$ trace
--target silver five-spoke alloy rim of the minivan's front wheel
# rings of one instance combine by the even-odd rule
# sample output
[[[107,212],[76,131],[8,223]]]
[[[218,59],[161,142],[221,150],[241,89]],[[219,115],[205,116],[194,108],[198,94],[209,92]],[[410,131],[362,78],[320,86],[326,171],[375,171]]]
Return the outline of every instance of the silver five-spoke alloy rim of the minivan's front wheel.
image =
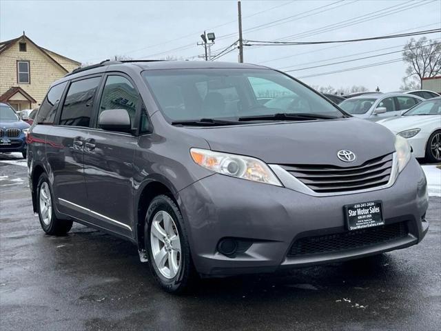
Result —
[[[159,272],[167,279],[175,277],[181,266],[181,239],[173,217],[163,210],[153,217],[150,245]]]

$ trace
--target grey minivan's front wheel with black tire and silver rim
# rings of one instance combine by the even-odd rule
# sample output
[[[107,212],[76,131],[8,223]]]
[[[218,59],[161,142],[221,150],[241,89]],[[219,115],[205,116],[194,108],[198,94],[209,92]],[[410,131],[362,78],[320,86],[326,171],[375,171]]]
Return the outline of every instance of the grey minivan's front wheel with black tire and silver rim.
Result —
[[[188,290],[196,274],[182,214],[170,197],[159,195],[150,203],[144,240],[150,270],[161,288],[170,293]]]

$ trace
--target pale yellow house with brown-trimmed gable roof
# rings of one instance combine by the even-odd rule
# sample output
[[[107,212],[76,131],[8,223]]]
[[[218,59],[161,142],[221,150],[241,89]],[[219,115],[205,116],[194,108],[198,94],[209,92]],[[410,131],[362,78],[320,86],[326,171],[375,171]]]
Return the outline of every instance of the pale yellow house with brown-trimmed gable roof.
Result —
[[[38,107],[50,84],[79,66],[78,61],[38,46],[24,32],[0,41],[0,102],[17,111]]]

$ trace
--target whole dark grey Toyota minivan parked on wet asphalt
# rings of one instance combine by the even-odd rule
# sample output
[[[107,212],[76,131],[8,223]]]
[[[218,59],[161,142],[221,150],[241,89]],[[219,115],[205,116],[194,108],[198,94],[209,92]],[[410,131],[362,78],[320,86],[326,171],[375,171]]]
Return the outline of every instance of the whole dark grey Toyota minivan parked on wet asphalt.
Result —
[[[46,233],[76,221],[128,239],[170,292],[406,248],[429,228],[406,139],[261,66],[76,70],[41,104],[28,166]]]

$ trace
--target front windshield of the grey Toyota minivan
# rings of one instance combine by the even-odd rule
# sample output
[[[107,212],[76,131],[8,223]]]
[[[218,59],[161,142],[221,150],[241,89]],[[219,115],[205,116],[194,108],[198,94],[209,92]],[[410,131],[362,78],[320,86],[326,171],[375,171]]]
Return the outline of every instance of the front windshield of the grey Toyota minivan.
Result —
[[[238,121],[280,113],[345,117],[326,99],[274,70],[147,70],[143,77],[161,112],[172,122]]]

